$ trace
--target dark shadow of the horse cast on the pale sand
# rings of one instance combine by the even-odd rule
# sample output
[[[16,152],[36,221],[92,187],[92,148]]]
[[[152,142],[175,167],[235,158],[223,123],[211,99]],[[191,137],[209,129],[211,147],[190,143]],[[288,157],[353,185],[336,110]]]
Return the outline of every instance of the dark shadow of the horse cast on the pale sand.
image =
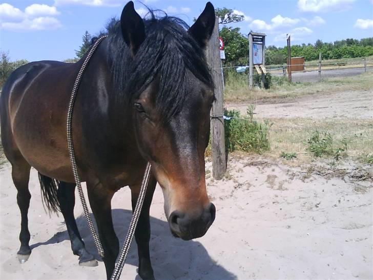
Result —
[[[130,210],[114,209],[112,210],[112,216],[114,229],[119,238],[121,248],[131,221],[132,212]],[[76,219],[76,223],[87,250],[98,261],[101,261],[87,226],[86,218],[79,216]],[[160,219],[151,217],[150,224],[152,229],[150,255],[156,279],[237,279],[236,275],[218,265],[198,241],[182,241],[180,238],[173,237],[168,223]],[[31,249],[66,240],[69,240],[67,230],[57,232],[46,242],[31,245]],[[217,244],[217,246],[219,245]],[[71,255],[73,255],[72,252]],[[132,243],[126,264],[138,265],[135,241]],[[76,265],[78,265],[77,258]],[[135,279],[141,278],[137,275]]]

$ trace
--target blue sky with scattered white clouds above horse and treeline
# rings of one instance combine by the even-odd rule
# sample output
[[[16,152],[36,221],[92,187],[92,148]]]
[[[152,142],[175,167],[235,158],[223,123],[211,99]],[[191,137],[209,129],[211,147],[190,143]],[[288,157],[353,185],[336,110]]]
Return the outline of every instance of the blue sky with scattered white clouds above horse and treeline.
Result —
[[[151,8],[176,15],[188,24],[203,10],[205,1],[143,0]],[[53,0],[0,1],[0,49],[12,61],[27,59],[63,60],[75,57],[86,30],[96,33],[109,18],[120,16],[127,1]],[[294,0],[294,1],[212,1],[215,8],[227,7],[245,16],[232,26],[247,34],[250,30],[267,34],[266,45],[334,42],[344,38],[373,36],[373,0]],[[144,7],[135,2],[142,14]]]

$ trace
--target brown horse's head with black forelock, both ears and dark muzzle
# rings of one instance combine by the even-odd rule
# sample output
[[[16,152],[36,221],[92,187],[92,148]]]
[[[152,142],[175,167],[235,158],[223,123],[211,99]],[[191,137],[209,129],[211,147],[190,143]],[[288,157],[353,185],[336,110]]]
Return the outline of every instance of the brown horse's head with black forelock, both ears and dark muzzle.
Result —
[[[131,87],[138,149],[162,188],[173,235],[203,236],[215,219],[204,162],[215,100],[204,50],[215,24],[214,7],[206,4],[188,30],[173,17],[143,20],[132,2],[120,22],[138,75],[133,79],[144,81]]]

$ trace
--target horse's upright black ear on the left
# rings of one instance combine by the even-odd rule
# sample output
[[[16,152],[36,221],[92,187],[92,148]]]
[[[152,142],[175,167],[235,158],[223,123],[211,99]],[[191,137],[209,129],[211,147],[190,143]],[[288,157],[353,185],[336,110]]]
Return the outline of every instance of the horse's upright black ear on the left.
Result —
[[[120,27],[123,39],[130,47],[132,55],[135,55],[145,39],[145,26],[141,16],[135,11],[132,1],[128,2],[123,8],[120,16]]]

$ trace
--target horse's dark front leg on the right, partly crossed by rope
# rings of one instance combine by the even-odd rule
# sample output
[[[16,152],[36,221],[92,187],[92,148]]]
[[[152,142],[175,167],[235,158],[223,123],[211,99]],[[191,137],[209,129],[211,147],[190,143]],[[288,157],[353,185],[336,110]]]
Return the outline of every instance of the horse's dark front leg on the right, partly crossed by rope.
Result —
[[[135,209],[137,198],[140,191],[140,185],[136,184],[130,186],[131,188],[131,201],[132,201],[132,210]],[[144,202],[142,205],[139,221],[135,230],[135,239],[137,243],[138,250],[138,274],[143,280],[154,279],[154,273],[152,264],[150,261],[150,252],[149,252],[149,241],[150,241],[150,205],[152,203],[153,194],[157,181],[152,175],[149,179],[147,193],[144,197]]]

